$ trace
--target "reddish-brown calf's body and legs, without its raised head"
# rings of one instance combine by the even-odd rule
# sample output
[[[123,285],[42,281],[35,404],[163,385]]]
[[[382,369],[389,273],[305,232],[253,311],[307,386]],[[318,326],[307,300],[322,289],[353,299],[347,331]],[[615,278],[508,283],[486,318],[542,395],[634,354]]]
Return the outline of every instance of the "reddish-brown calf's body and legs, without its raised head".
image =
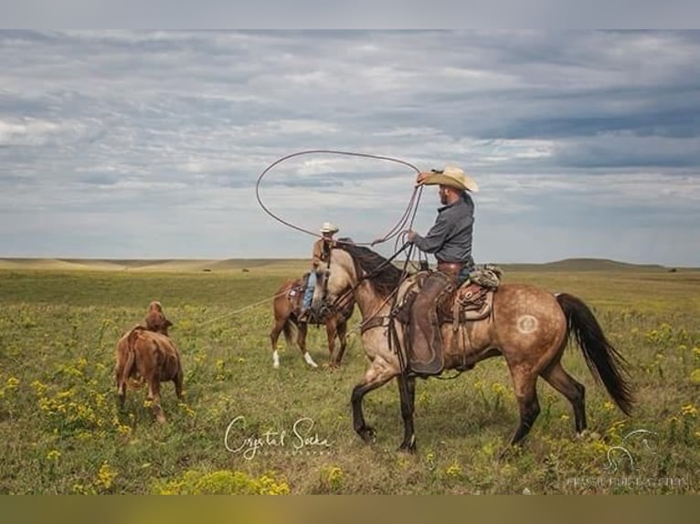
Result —
[[[126,383],[130,378],[141,379],[148,384],[148,400],[153,402],[155,418],[165,422],[161,407],[161,384],[173,381],[177,398],[182,399],[183,371],[180,354],[175,344],[161,333],[136,326],[124,334],[116,349],[114,374],[120,406],[124,407]]]

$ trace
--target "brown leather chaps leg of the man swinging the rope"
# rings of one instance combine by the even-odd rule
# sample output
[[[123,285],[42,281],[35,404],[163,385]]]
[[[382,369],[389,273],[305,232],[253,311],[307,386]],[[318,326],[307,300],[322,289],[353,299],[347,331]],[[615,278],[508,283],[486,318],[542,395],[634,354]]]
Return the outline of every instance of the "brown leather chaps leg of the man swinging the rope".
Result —
[[[413,302],[408,324],[408,367],[421,375],[440,374],[444,365],[437,301],[451,279],[440,272],[426,278]]]

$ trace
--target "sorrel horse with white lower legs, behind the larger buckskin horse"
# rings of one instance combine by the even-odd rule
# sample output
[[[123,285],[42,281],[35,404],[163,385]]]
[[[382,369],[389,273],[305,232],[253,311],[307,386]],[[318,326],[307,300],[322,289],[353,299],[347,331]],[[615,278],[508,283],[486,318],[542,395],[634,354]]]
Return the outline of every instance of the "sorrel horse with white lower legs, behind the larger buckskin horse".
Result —
[[[272,342],[272,365],[275,368],[280,367],[280,355],[277,351],[277,341],[280,338],[280,333],[284,333],[284,340],[287,345],[292,345],[293,331],[297,331],[297,345],[302,351],[304,361],[311,367],[318,367],[316,362],[313,362],[311,354],[306,351],[306,332],[308,324],[319,326],[325,325],[325,332],[328,336],[328,353],[331,359],[329,365],[337,367],[340,365],[345,348],[347,347],[347,321],[353,316],[355,311],[355,303],[350,303],[342,309],[326,310],[321,308],[313,308],[315,314],[308,322],[300,322],[299,317],[302,312],[302,296],[303,296],[303,278],[285,282],[281,288],[277,290],[275,299],[272,303],[274,310],[275,322],[270,331],[270,341]],[[335,351],[335,338],[338,338],[340,347]]]

